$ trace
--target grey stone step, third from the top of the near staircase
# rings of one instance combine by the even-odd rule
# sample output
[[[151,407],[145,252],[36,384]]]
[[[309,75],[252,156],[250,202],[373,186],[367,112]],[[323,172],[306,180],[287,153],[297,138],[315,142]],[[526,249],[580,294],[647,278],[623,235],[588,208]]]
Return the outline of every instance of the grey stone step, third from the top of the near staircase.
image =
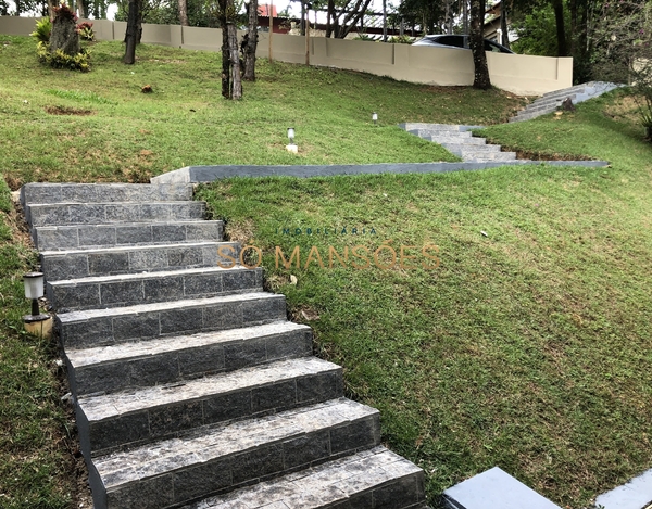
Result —
[[[220,242],[222,221],[114,222],[41,226],[33,230],[39,251],[88,250],[172,242]]]

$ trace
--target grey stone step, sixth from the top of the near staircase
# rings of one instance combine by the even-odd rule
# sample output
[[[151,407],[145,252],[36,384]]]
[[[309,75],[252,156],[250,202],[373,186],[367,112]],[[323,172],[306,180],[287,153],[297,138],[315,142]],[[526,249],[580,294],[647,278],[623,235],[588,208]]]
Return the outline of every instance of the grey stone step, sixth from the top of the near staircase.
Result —
[[[66,349],[78,349],[285,320],[284,295],[252,292],[59,313],[54,317],[54,327]]]

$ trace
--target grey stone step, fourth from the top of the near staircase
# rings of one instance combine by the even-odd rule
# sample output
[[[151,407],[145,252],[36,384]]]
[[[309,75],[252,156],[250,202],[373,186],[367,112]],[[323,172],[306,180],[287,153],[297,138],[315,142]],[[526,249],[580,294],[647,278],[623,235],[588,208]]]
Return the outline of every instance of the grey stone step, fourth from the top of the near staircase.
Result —
[[[221,255],[222,253],[222,255]],[[240,246],[236,242],[134,245],[96,250],[42,251],[48,281],[196,267],[230,267]]]

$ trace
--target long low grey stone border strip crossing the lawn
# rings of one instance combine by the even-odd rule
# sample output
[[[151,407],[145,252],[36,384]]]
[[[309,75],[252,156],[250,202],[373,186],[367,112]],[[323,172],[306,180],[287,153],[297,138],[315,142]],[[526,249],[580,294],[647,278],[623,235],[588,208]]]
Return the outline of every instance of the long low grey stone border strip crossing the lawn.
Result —
[[[377,175],[377,174],[446,174],[449,171],[473,171],[498,168],[500,166],[585,166],[604,167],[606,161],[526,161],[493,163],[384,163],[363,165],[294,165],[256,166],[220,165],[186,166],[151,179],[152,183],[200,183],[212,182],[231,177],[333,177],[336,175]]]

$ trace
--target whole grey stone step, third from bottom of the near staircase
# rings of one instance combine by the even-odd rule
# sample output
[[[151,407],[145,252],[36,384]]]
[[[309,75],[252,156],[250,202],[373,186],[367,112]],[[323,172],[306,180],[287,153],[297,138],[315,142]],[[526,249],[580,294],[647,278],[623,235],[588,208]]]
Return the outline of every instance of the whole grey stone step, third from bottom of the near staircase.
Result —
[[[196,380],[77,399],[85,455],[341,397],[342,369],[316,357],[277,360]]]

